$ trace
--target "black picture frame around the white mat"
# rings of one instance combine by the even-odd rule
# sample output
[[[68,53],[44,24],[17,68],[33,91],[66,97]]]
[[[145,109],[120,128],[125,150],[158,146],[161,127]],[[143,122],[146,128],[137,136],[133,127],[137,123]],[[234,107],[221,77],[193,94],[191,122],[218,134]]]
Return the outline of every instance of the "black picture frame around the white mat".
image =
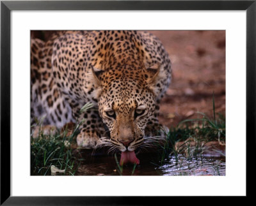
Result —
[[[157,197],[10,196],[10,12],[12,10],[246,10],[246,196],[255,182],[256,2],[253,1],[1,1],[1,205],[151,205]],[[237,94],[239,95],[239,94]],[[239,98],[239,96],[237,96]],[[160,197],[161,202],[171,201]],[[182,199],[183,201],[184,199]],[[243,200],[242,200],[243,201]],[[238,202],[237,202],[238,203]]]

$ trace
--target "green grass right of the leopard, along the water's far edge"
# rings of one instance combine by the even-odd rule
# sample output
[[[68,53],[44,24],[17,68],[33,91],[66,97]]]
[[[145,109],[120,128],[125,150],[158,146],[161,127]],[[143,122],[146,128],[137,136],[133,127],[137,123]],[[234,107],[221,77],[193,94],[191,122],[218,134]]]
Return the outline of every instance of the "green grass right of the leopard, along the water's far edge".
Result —
[[[211,141],[225,142],[226,125],[225,116],[216,114],[214,94],[212,96],[212,117],[202,112],[198,112],[198,118],[186,119],[175,128],[170,128],[166,134],[166,142],[159,146],[159,161],[163,165],[168,161],[170,155],[174,155],[176,161],[179,161],[179,154],[186,153],[187,158],[202,159],[204,143]],[[193,140],[193,147],[188,140]],[[186,142],[187,141],[187,142]],[[177,148],[177,143],[182,142]],[[176,145],[176,147],[175,147]]]

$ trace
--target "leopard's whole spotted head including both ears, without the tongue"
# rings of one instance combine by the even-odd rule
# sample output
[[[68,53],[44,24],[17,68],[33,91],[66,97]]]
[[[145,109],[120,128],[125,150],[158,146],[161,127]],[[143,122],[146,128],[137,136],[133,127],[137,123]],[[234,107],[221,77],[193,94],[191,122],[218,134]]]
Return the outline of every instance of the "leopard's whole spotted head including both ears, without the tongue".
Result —
[[[99,114],[110,131],[110,140],[121,152],[134,151],[144,141],[147,123],[154,118],[155,85],[159,64],[150,68],[92,68]]]

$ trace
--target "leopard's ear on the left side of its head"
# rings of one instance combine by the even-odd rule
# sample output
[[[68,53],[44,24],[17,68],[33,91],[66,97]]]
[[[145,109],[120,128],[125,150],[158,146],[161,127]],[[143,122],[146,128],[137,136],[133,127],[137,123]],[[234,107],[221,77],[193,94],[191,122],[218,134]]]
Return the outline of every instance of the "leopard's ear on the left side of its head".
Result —
[[[103,70],[99,70],[93,66],[91,66],[92,68],[92,82],[93,82],[93,85],[94,85],[94,90],[92,92],[92,96],[93,98],[95,99],[98,99],[101,92],[102,92],[102,84],[100,82],[100,78],[99,76],[104,73]]]

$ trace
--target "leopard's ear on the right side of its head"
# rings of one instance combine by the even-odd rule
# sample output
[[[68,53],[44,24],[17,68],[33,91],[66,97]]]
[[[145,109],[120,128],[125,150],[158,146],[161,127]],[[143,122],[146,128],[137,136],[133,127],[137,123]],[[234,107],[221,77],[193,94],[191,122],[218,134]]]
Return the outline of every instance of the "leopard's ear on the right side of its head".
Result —
[[[147,79],[148,88],[156,95],[157,94],[157,78],[159,77],[159,71],[161,68],[160,63],[155,63],[147,68],[149,78]]]

